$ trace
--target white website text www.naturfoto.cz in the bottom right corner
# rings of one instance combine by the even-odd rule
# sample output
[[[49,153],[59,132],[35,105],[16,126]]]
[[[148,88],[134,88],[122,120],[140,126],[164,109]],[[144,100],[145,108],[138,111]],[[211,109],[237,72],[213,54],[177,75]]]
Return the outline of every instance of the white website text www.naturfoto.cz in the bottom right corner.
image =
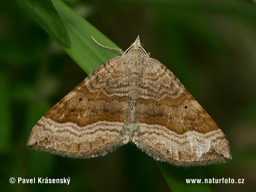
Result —
[[[244,184],[244,179],[237,179],[237,181],[235,181],[235,179],[186,179],[186,183],[241,183]]]

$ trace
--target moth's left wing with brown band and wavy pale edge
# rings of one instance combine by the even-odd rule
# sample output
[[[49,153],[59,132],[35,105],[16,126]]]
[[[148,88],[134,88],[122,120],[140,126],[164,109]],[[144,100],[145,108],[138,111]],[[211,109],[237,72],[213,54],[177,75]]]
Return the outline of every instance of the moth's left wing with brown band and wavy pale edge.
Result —
[[[61,99],[34,126],[27,146],[89,158],[127,143],[128,76],[120,65],[120,57],[109,60]]]

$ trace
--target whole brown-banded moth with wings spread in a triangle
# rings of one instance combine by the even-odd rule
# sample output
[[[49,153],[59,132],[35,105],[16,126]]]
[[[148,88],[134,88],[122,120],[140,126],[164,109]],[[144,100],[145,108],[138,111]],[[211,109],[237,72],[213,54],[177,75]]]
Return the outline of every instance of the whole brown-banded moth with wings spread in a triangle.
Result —
[[[27,146],[92,158],[128,142],[175,166],[232,159],[221,129],[179,79],[148,56],[139,36],[39,119]]]

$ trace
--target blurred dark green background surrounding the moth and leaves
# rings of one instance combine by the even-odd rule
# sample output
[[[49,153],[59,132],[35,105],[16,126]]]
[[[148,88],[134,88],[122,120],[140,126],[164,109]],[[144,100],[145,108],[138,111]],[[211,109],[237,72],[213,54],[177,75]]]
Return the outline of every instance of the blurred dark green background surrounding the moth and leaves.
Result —
[[[151,57],[166,65],[221,127],[233,160],[183,169],[156,162],[132,144],[94,159],[67,159],[27,149],[27,138],[37,120],[87,74],[17,2],[1,0],[1,191],[177,191],[166,180],[165,168],[174,178],[198,178],[200,171],[202,179],[244,179],[244,184],[206,185],[205,191],[256,189],[253,0],[65,2],[123,50],[140,35]],[[69,185],[10,184],[11,177],[71,180]],[[184,179],[177,182],[188,185]]]

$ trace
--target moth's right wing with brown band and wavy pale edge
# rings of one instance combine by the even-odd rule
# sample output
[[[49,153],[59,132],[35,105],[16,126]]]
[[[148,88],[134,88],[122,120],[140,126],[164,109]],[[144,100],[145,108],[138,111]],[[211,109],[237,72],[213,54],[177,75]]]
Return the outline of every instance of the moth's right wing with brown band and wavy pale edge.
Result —
[[[231,159],[216,123],[162,63],[149,59],[138,99],[140,132],[133,141],[155,159],[178,166]],[[154,74],[154,75],[153,75]]]

